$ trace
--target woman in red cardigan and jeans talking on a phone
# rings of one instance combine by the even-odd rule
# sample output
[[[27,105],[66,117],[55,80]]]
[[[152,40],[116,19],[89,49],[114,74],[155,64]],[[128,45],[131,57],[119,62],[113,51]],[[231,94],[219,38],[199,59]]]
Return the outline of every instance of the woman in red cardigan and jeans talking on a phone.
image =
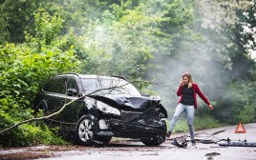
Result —
[[[196,145],[196,141],[194,139],[195,135],[194,135],[194,126],[193,126],[194,112],[197,109],[196,93],[198,93],[199,96],[203,99],[203,101],[210,107],[210,110],[213,110],[213,107],[211,106],[209,101],[206,99],[206,97],[203,95],[198,85],[193,83],[191,74],[189,72],[185,72],[182,75],[180,88],[177,91],[177,95],[181,96],[181,99],[175,110],[169,131],[167,133],[167,136],[171,135],[172,130],[174,129],[175,124],[179,119],[181,113],[183,111],[186,111],[187,124],[189,127],[191,142],[193,146]]]

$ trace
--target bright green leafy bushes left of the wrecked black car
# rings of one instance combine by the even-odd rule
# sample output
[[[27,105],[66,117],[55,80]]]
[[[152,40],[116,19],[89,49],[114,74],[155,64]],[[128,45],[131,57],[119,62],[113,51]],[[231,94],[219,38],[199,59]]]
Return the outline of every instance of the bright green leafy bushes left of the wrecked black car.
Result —
[[[50,76],[74,71],[78,61],[65,37],[57,38],[63,20],[55,13],[35,14],[35,36],[26,33],[27,42],[0,46],[0,130],[33,117],[36,91]],[[65,144],[42,123],[29,123],[0,135],[0,145],[31,146]]]

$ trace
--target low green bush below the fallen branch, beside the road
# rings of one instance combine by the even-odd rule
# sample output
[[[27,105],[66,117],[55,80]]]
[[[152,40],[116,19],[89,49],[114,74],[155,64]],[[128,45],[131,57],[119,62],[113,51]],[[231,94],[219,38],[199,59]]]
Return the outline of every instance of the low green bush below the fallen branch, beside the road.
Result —
[[[0,112],[0,130],[4,130],[13,126],[18,121],[9,113]],[[67,144],[61,137],[57,136],[53,131],[43,123],[32,122],[23,124],[14,130],[10,130],[0,134],[0,145],[2,147],[32,146],[37,144]],[[54,129],[57,130],[57,129]]]

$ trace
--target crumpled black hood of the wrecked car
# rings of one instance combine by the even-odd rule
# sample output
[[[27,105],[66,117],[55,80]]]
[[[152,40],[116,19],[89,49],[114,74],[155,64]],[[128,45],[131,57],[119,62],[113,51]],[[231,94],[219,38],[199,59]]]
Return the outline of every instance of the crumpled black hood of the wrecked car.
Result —
[[[160,97],[143,97],[131,95],[93,95],[92,98],[120,110],[147,110],[160,104]]]

